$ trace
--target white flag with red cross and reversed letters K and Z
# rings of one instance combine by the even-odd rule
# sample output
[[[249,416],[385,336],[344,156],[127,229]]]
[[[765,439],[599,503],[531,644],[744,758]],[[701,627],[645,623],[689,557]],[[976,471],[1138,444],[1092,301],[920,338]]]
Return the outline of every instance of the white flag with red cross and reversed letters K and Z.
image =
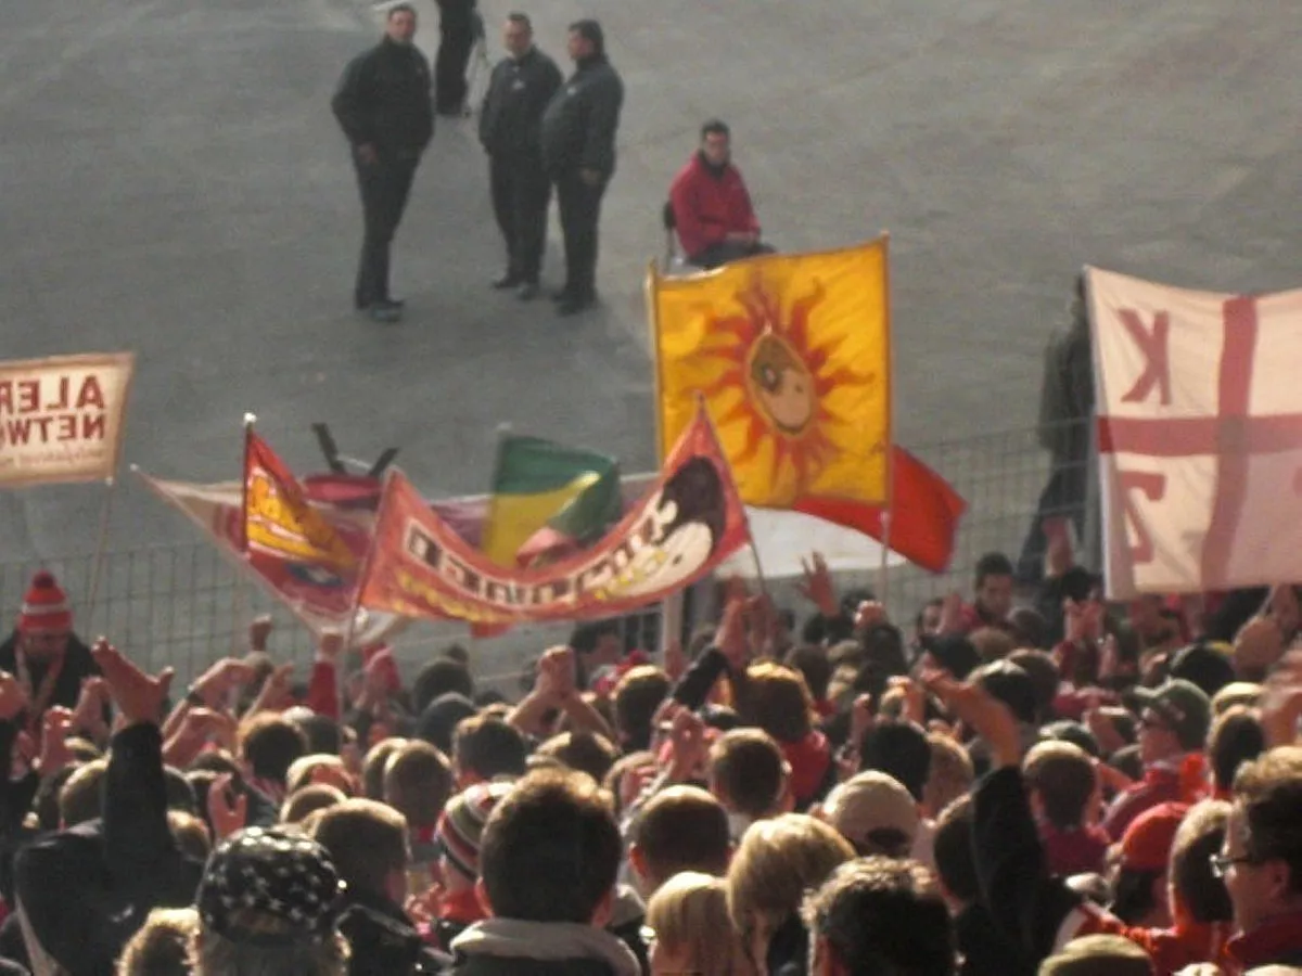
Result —
[[[1088,294],[1108,595],[1302,582],[1302,290]]]

